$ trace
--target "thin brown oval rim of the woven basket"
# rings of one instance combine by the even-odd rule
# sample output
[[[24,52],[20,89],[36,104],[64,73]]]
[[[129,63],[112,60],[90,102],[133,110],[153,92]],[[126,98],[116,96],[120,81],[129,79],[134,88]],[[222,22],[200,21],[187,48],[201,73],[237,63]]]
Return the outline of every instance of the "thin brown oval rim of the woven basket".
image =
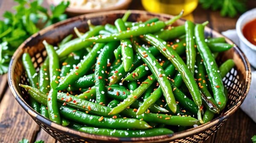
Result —
[[[124,141],[124,142],[167,141],[167,140],[177,140],[177,139],[181,139],[181,138],[184,138],[184,137],[189,137],[189,136],[195,135],[198,132],[205,131],[205,130],[209,129],[212,126],[217,125],[218,123],[221,123],[222,121],[227,119],[230,115],[232,115],[240,107],[241,103],[244,101],[244,98],[246,97],[246,95],[249,92],[250,82],[251,82],[251,70],[250,70],[250,64],[249,64],[246,56],[240,50],[240,48],[236,45],[233,48],[235,49],[237,54],[239,56],[241,56],[241,60],[244,64],[244,67],[245,67],[245,70],[246,70],[245,88],[241,92],[241,95],[240,95],[241,98],[239,99],[239,101],[235,105],[233,105],[233,107],[231,107],[229,110],[227,110],[226,112],[224,112],[222,115],[218,116],[217,118],[213,119],[212,121],[210,121],[208,123],[205,123],[203,125],[200,125],[198,127],[192,128],[192,129],[187,129],[187,130],[182,131],[182,132],[176,132],[176,133],[169,134],[169,135],[160,135],[160,136],[152,136],[152,137],[125,137],[125,138],[123,138],[123,137],[110,137],[110,136],[103,136],[103,135],[94,135],[94,134],[84,133],[84,132],[77,131],[75,129],[71,129],[71,128],[68,128],[68,127],[58,125],[57,123],[54,123],[54,122],[48,120],[47,118],[44,118],[43,116],[41,116],[38,112],[36,112],[34,109],[32,109],[24,101],[24,99],[21,97],[20,93],[17,90],[17,86],[14,83],[15,79],[13,79],[13,75],[15,74],[15,72],[14,72],[15,64],[18,60],[18,57],[21,57],[21,54],[23,54],[23,50],[25,49],[26,43],[33,40],[35,36],[46,34],[47,32],[51,31],[55,27],[61,27],[62,25],[68,24],[68,23],[73,22],[73,21],[83,20],[84,18],[89,19],[89,18],[92,18],[92,17],[99,17],[99,16],[102,16],[102,15],[108,15],[108,14],[124,14],[125,12],[126,12],[126,10],[105,11],[105,12],[84,14],[84,15],[81,15],[81,16],[73,17],[73,18],[64,20],[62,22],[55,23],[54,25],[51,25],[47,28],[44,28],[41,31],[39,31],[38,33],[33,34],[28,39],[26,39],[26,41],[24,41],[17,48],[14,55],[12,56],[12,60],[9,64],[9,70],[8,70],[8,84],[9,84],[9,87],[12,91],[13,96],[15,97],[16,101],[20,104],[20,106],[23,107],[23,109],[27,113],[29,113],[30,116],[34,117],[36,120],[40,121],[41,123],[44,123],[45,126],[48,126],[49,128],[53,128],[55,131],[61,132],[65,135],[70,135],[70,136],[78,137],[78,138],[82,137],[84,139],[87,138],[87,139],[92,139],[92,140],[95,140],[95,139],[96,140],[102,140],[102,141],[104,141],[104,140],[113,140],[113,141],[115,141],[116,140],[116,141]],[[149,14],[149,15],[153,15],[155,17],[164,17],[164,18],[168,18],[168,19],[173,17],[172,15],[168,15],[168,14],[155,14],[155,13],[151,13],[151,12],[147,12],[147,11],[140,11],[140,10],[131,10],[131,14]],[[182,22],[182,21],[184,22],[184,20],[178,20],[178,21],[179,22]],[[210,31],[211,34],[217,35],[218,37],[220,37],[220,36],[225,37],[225,36],[221,35],[220,33],[218,33],[217,31],[212,30],[209,27],[206,27],[206,30]],[[225,37],[225,39],[226,39],[227,42],[233,43],[227,37]]]

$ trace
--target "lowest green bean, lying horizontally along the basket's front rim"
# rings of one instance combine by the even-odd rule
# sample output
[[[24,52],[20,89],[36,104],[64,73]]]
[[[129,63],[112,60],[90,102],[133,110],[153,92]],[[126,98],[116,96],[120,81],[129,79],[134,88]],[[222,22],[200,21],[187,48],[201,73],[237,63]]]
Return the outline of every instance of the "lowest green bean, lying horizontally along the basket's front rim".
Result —
[[[173,131],[166,128],[147,129],[147,130],[116,130],[116,129],[99,129],[94,127],[83,127],[79,129],[95,135],[106,135],[111,137],[150,137],[158,135],[172,134]]]

